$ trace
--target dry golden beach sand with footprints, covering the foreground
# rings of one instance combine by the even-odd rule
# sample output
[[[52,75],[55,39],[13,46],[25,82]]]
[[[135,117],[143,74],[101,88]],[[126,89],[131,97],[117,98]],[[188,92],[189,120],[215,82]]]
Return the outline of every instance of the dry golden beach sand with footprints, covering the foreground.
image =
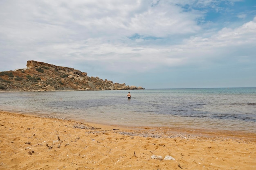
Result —
[[[151,159],[153,154],[175,160]],[[256,137],[202,137],[0,112],[5,169],[255,170]]]

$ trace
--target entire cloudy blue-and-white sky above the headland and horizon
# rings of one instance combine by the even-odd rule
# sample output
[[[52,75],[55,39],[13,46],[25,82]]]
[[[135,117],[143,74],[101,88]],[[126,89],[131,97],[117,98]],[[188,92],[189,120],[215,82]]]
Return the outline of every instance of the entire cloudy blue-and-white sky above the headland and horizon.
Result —
[[[256,0],[0,0],[0,72],[27,60],[146,89],[256,87]]]

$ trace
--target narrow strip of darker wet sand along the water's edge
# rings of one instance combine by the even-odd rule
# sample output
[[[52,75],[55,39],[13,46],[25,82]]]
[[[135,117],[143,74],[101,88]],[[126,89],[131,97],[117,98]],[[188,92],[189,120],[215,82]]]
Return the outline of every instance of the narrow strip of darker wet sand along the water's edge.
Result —
[[[120,129],[120,130],[134,130],[134,131],[164,131],[170,134],[180,134],[182,135],[191,135],[191,136],[201,136],[201,137],[222,137],[227,139],[238,139],[238,140],[247,140],[256,142],[256,133],[244,132],[244,131],[233,131],[233,130],[209,130],[209,129],[196,129],[196,128],[182,128],[182,127],[167,127],[167,126],[128,126],[128,125],[111,125],[108,123],[96,123],[93,121],[85,121],[81,119],[72,119],[61,116],[53,115],[40,115],[33,113],[24,113],[24,112],[9,112],[0,110],[0,112],[7,112],[11,114],[21,114],[24,116],[36,116],[39,118],[49,118],[49,119],[61,119],[67,121],[75,121],[80,123],[85,123],[87,125],[98,127],[102,129]],[[163,136],[162,136],[163,137]],[[165,136],[166,137],[166,136]]]

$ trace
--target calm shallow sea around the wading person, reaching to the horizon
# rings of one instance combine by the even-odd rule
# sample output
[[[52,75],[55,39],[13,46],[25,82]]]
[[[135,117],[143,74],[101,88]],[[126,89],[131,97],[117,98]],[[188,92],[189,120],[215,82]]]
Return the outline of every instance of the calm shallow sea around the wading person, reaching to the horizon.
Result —
[[[0,110],[126,127],[256,133],[255,87],[6,92]]]

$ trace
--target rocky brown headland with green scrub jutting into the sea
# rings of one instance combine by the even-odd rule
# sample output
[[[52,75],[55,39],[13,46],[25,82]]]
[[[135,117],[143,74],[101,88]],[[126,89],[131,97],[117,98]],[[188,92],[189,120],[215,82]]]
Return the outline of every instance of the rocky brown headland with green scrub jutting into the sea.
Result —
[[[124,90],[144,89],[89,77],[80,70],[27,61],[27,68],[0,72],[0,91]]]

